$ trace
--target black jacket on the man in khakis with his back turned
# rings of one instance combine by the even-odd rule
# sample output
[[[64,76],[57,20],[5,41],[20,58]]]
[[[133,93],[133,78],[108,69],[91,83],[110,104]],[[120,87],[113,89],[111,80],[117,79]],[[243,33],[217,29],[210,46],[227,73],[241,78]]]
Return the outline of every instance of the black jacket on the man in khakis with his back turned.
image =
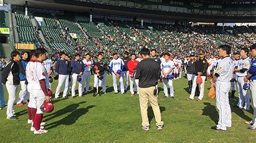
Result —
[[[149,88],[157,85],[160,76],[160,64],[155,62],[155,59],[143,59],[138,63],[135,79],[139,79],[140,88]]]

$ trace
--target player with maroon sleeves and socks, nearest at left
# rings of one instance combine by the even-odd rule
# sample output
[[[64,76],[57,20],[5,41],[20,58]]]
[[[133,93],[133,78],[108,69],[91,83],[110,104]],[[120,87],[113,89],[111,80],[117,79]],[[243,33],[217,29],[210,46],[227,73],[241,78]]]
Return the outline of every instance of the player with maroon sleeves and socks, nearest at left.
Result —
[[[51,101],[51,94],[48,93],[50,89],[49,88],[49,80],[48,75],[46,72],[46,69],[43,66],[43,60],[46,60],[46,49],[38,48],[35,50],[35,56],[36,56],[36,62],[34,63],[34,69],[31,69],[31,71],[27,72],[27,75],[30,75],[31,77],[30,83],[32,84],[31,87],[31,94],[33,100],[35,101],[36,106],[36,114],[33,119],[33,125],[34,127],[34,134],[43,134],[47,133],[48,131],[46,129],[40,128],[40,124],[42,123],[43,119],[43,111],[40,109],[40,107],[43,105],[44,100],[46,99],[46,102]]]

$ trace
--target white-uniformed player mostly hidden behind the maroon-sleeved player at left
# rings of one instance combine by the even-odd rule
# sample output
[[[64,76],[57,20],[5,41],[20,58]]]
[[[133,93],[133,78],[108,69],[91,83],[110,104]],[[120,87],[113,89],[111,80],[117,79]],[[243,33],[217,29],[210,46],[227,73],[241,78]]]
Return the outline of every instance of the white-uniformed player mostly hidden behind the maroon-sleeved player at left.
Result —
[[[34,83],[34,63],[36,62],[36,56],[35,56],[35,50],[30,51],[30,61],[27,63],[26,66],[26,77],[27,77],[27,91],[30,94],[30,102],[27,105],[27,113],[28,113],[28,120],[27,123],[31,124],[30,131],[35,131],[35,128],[33,127],[33,119],[35,118],[36,114],[36,101],[34,97],[32,96],[32,86]],[[45,122],[41,122],[40,125],[46,124]],[[40,127],[43,128],[43,127]]]

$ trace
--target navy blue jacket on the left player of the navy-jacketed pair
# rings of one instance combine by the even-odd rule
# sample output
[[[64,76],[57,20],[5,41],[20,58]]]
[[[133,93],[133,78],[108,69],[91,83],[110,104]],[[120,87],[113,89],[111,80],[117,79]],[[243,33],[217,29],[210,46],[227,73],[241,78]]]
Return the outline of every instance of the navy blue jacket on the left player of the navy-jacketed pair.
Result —
[[[58,59],[55,65],[56,72],[59,75],[69,75],[69,61],[66,59]]]

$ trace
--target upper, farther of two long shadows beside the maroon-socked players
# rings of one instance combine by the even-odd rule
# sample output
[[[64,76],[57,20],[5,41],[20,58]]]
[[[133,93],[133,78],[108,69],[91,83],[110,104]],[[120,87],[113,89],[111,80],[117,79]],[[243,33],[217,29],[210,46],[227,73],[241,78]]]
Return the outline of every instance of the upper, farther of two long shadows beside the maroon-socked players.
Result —
[[[63,114],[66,114],[68,112],[73,112],[79,107],[80,104],[86,103],[85,101],[79,102],[79,103],[74,103],[72,105],[68,105],[64,109],[58,110],[56,112],[53,112],[52,114],[44,116],[44,122],[47,122],[48,120],[52,120],[54,118],[57,118],[58,116],[61,116]]]

